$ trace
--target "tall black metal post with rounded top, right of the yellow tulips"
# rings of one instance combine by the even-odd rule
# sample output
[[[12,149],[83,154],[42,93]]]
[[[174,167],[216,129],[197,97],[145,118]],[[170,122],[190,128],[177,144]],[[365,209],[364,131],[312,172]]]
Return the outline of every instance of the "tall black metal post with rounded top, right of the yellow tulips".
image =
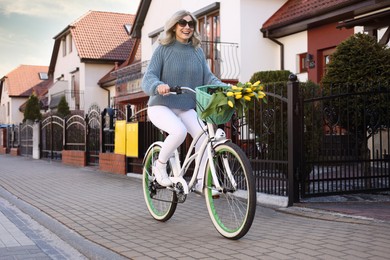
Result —
[[[302,133],[300,131],[300,113],[302,109],[299,103],[299,82],[297,76],[291,74],[287,83],[287,128],[288,128],[288,206],[299,202],[299,163],[300,143]]]

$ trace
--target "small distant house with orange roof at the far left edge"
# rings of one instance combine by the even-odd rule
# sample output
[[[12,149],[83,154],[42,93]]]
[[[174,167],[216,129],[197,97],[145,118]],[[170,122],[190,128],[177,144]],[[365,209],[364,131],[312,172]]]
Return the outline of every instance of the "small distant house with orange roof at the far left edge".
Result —
[[[19,124],[23,121],[20,106],[32,92],[32,87],[48,80],[47,66],[20,65],[1,78],[0,124]]]

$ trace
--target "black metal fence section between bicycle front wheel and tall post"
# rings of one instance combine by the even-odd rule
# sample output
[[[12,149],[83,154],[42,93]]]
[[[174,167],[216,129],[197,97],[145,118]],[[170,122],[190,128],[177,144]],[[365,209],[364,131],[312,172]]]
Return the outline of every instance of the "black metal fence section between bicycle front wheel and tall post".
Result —
[[[232,139],[248,156],[257,192],[288,195],[287,84],[268,84],[267,103],[254,101],[246,117],[234,121]]]

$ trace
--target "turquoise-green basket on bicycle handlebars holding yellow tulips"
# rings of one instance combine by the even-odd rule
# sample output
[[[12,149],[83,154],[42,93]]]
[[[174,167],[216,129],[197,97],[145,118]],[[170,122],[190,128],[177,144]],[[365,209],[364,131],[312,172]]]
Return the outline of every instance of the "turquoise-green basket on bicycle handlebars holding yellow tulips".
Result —
[[[200,86],[195,89],[196,101],[197,101],[196,111],[199,117],[201,116],[202,111],[209,104],[212,93],[217,88],[228,88],[228,86],[207,85],[207,86]],[[209,123],[222,125],[227,123],[231,119],[233,114],[234,114],[234,109],[226,109],[206,117],[205,120],[206,122]]]

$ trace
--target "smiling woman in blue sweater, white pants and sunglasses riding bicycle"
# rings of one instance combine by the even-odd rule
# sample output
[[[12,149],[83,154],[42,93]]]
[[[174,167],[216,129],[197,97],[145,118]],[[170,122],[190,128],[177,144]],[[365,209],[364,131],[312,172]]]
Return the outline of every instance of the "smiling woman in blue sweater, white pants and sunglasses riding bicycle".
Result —
[[[168,133],[158,161],[153,166],[156,181],[168,187],[172,182],[166,170],[167,161],[184,142],[187,133],[195,137],[204,126],[195,111],[194,97],[190,94],[169,95],[169,87],[186,86],[195,89],[203,85],[226,84],[210,71],[200,46],[197,20],[192,13],[185,10],[176,12],[166,22],[165,36],[159,43],[144,75],[142,89],[150,96],[150,121]],[[198,176],[203,178],[202,174]],[[195,190],[202,186],[203,179],[198,179]]]

